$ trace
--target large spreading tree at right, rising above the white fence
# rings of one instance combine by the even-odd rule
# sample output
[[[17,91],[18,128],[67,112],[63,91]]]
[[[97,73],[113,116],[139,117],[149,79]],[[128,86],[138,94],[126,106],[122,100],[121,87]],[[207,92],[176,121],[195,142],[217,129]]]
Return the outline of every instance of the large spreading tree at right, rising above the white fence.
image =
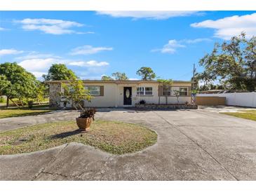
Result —
[[[223,87],[234,90],[256,89],[256,36],[245,34],[230,41],[215,43],[212,53],[206,54],[199,64],[204,71],[197,77],[208,83],[220,81]]]

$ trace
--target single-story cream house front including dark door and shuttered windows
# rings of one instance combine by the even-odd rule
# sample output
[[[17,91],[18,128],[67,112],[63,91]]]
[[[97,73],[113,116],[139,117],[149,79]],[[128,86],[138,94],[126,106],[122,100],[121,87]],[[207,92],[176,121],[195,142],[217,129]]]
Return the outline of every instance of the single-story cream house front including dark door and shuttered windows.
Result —
[[[62,83],[69,85],[69,81],[48,81],[50,85],[50,107],[63,107],[64,99]],[[191,81],[173,81],[168,90],[157,81],[101,81],[83,80],[86,89],[93,95],[91,102],[84,101],[86,107],[134,107],[144,100],[149,104],[165,104],[165,93],[168,94],[168,104],[176,104],[174,90],[180,90],[179,103],[191,103]],[[71,104],[67,104],[71,107]]]

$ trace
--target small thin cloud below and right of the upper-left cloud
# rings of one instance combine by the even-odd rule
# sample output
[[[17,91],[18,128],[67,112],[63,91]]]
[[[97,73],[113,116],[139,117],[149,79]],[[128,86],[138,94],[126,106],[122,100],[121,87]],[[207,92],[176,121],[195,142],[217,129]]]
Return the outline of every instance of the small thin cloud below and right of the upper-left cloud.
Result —
[[[93,46],[81,46],[72,49],[70,55],[90,55],[99,53],[103,50],[113,50],[113,48],[107,48],[107,47],[93,47]]]

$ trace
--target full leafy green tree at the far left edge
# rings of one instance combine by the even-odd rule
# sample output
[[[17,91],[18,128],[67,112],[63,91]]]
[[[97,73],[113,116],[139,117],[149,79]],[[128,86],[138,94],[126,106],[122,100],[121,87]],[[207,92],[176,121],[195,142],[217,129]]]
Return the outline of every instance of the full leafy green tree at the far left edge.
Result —
[[[13,98],[22,100],[25,97],[36,95],[37,83],[35,76],[16,62],[0,64],[0,93],[7,97],[6,107],[8,107],[9,100],[18,106]]]

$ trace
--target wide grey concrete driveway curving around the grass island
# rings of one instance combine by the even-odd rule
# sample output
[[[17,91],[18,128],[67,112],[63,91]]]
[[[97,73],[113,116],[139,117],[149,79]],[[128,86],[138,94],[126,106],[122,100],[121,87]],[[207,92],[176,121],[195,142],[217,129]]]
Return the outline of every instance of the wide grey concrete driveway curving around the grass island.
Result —
[[[5,118],[1,130],[66,121],[77,112]],[[101,111],[97,119],[139,123],[158,142],[122,156],[71,143],[46,151],[0,156],[1,180],[255,180],[256,122],[215,112]]]

